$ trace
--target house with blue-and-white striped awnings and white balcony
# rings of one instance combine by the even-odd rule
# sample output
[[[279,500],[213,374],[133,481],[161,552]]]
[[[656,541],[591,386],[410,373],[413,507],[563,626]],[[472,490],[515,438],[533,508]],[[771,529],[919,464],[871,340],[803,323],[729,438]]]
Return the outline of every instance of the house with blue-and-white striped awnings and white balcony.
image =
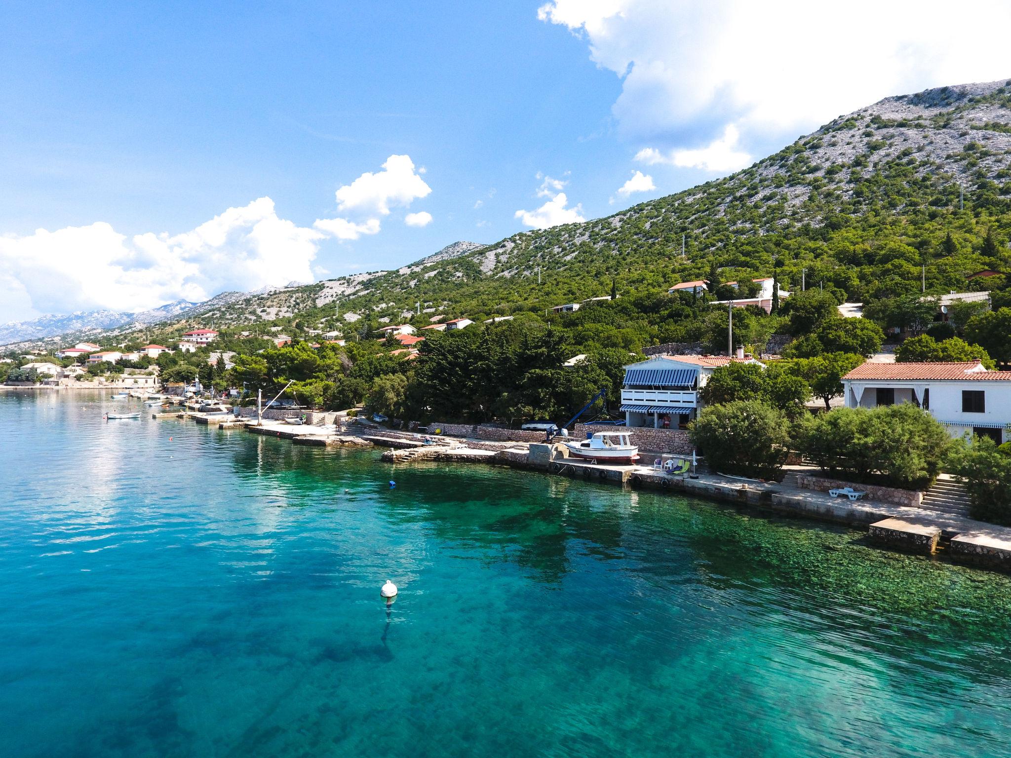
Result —
[[[729,363],[765,368],[751,356],[656,356],[625,367],[621,409],[631,428],[685,429],[705,403],[699,390]]]

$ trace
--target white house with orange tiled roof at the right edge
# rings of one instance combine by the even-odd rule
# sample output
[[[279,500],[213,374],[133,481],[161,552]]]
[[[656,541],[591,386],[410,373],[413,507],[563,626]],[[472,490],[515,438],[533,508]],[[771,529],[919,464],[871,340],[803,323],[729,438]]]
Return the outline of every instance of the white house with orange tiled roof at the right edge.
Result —
[[[973,434],[1007,442],[1011,371],[966,363],[865,363],[842,378],[847,408],[911,402],[929,410],[952,437]]]

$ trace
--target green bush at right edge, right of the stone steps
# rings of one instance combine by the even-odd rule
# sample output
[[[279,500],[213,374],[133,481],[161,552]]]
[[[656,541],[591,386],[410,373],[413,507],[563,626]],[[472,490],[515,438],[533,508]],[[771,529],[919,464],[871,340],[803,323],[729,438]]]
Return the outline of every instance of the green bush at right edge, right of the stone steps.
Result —
[[[966,483],[974,518],[1011,526],[1011,455],[1004,445],[989,437],[958,440],[947,468]]]

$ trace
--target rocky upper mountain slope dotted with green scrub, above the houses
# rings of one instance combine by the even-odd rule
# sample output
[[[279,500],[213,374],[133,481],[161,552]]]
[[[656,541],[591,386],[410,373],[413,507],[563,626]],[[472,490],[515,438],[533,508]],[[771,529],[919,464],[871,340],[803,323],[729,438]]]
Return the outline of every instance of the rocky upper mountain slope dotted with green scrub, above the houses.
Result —
[[[840,296],[866,299],[913,286],[907,280],[918,282],[929,259],[928,285],[961,287],[974,267],[1011,268],[1003,246],[978,252],[982,234],[1006,231],[1009,158],[1011,82],[889,97],[736,174],[605,218],[488,246],[455,243],[395,271],[238,296],[200,317],[239,324],[304,315],[339,324],[398,319],[418,303],[472,318],[543,314],[608,294],[612,283],[622,292],[662,292],[706,276],[714,262],[729,279],[769,275],[777,260],[788,286],[804,270],[810,282],[817,276]],[[957,265],[943,263],[952,251],[933,239],[942,226],[956,233]],[[901,250],[874,252],[886,245]],[[187,315],[196,314],[179,314]]]

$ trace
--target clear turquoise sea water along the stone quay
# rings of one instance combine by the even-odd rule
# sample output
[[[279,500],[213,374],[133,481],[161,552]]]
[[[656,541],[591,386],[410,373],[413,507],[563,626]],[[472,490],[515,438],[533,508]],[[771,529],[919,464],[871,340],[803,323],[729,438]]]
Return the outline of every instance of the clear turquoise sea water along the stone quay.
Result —
[[[139,405],[0,394],[0,756],[1011,754],[1005,577]]]

